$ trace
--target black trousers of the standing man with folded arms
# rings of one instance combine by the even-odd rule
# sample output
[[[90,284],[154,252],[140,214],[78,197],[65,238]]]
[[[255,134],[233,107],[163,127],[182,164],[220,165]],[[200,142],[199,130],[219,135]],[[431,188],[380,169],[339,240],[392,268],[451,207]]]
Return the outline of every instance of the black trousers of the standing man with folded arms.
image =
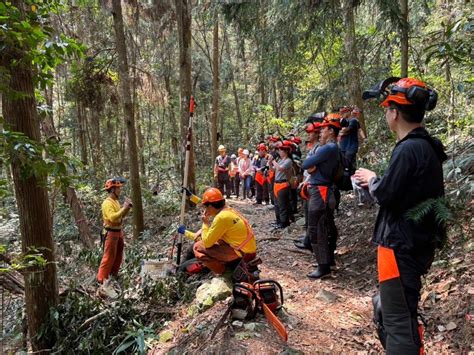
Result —
[[[309,186],[308,192],[308,235],[311,244],[317,244],[317,248],[313,248],[313,253],[318,264],[329,265],[333,259],[337,238],[337,234],[331,239],[329,237],[330,234],[334,235],[335,231],[337,233],[334,224],[336,206],[334,192],[329,187],[314,185]]]

